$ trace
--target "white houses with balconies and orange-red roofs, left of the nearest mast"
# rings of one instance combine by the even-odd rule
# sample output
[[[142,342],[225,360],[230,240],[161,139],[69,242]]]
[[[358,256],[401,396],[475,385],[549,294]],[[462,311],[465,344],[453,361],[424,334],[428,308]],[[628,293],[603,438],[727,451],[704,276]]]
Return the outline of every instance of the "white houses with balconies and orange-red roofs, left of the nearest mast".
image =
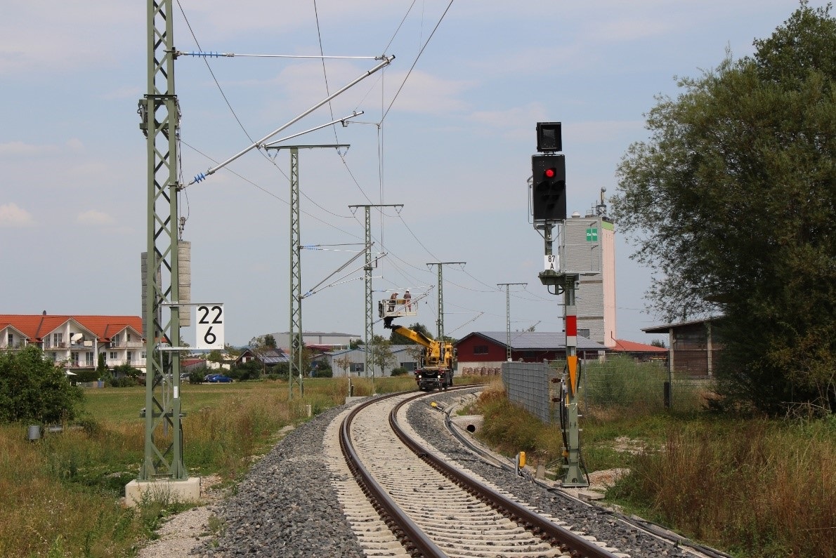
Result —
[[[0,314],[0,350],[38,345],[65,370],[96,368],[99,354],[113,368],[130,364],[145,373],[139,316]]]

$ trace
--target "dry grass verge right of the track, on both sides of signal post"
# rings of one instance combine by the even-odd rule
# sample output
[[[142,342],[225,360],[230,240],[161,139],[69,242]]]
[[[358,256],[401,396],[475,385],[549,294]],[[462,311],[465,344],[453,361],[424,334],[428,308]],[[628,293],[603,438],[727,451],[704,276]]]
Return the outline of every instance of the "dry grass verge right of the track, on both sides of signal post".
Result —
[[[485,421],[477,435],[503,454],[558,459],[559,429],[508,403],[501,383],[478,407]],[[608,498],[632,512],[741,558],[836,556],[833,417],[682,418],[619,408],[584,418],[582,428],[590,472],[630,467]]]

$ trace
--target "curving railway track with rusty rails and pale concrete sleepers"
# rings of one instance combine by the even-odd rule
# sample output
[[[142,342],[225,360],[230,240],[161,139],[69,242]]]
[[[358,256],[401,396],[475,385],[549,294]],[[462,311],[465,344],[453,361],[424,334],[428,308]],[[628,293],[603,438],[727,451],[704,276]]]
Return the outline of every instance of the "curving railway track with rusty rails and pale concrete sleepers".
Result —
[[[404,418],[421,397],[398,393],[346,409],[325,433],[340,504],[366,555],[626,556],[435,454]]]

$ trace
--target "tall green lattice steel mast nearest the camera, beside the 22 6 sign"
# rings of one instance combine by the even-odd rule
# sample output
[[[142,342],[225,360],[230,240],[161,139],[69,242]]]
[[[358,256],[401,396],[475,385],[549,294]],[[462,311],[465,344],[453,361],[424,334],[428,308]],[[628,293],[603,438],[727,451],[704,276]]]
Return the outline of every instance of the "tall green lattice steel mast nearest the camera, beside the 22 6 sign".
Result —
[[[148,87],[140,99],[147,138],[148,205],[145,266],[145,459],[140,480],[187,479],[182,461],[177,256],[177,139],[180,110],[174,91],[171,0],[148,0]],[[172,397],[159,397],[171,382]]]

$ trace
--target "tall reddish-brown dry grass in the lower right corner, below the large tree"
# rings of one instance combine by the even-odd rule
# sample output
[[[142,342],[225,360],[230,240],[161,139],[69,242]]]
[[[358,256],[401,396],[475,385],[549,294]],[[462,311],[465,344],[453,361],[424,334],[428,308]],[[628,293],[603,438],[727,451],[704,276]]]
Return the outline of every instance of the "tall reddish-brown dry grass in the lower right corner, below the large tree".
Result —
[[[836,428],[764,419],[678,425],[615,494],[742,555],[836,552]]]

